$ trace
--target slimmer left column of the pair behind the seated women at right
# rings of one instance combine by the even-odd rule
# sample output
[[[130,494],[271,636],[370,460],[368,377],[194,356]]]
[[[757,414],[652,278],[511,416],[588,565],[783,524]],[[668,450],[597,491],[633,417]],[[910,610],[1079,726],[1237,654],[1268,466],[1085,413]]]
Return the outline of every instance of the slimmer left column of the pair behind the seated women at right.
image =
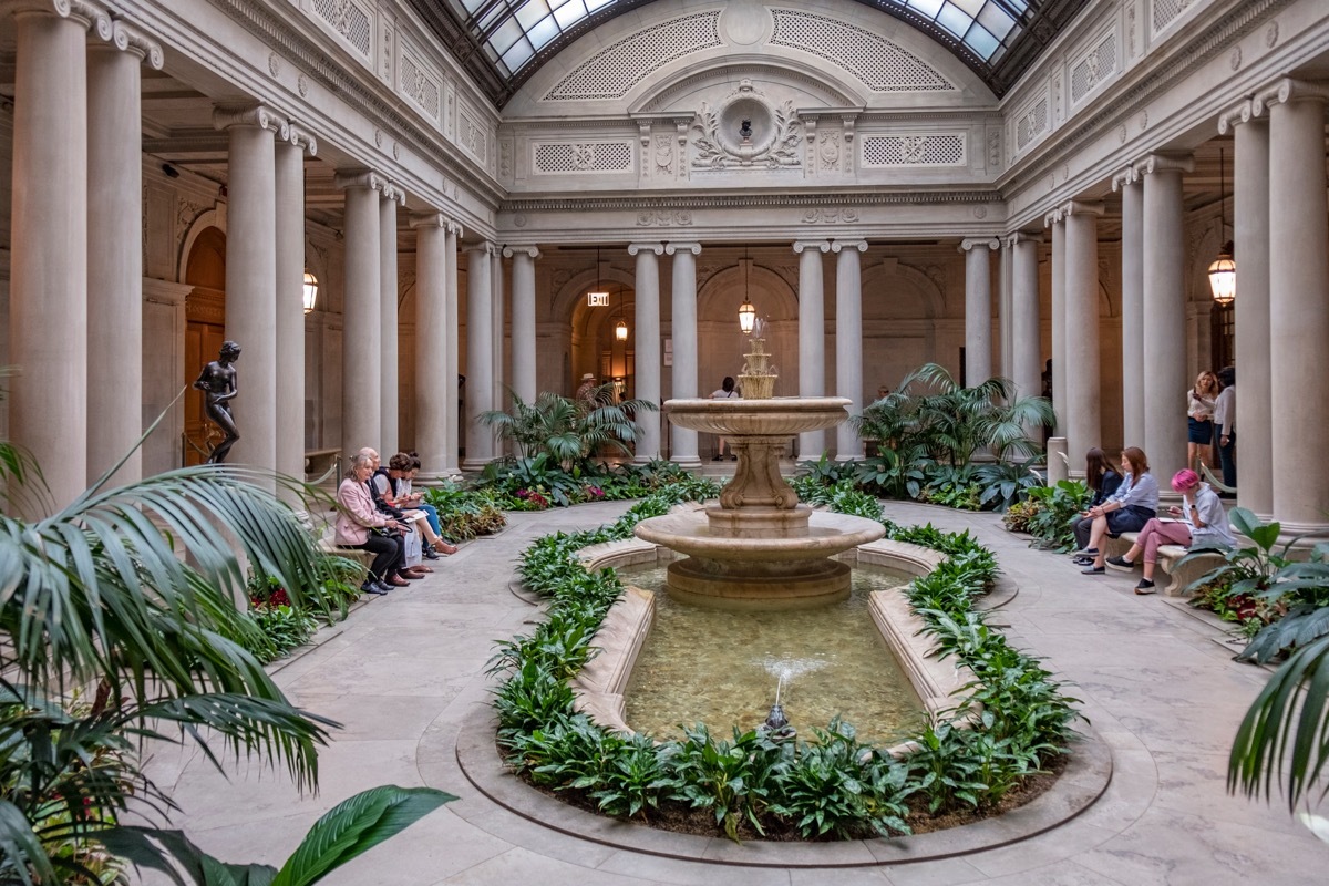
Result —
[[[1112,190],[1122,191],[1122,438],[1143,446],[1144,186],[1131,166],[1112,179]]]

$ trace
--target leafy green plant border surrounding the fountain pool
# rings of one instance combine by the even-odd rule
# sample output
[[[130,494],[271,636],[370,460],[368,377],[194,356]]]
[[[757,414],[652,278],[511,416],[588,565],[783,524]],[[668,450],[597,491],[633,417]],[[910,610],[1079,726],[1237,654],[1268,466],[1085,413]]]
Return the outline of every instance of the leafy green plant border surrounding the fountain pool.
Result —
[[[863,745],[853,727],[839,720],[813,729],[812,743],[777,744],[739,729],[726,740],[696,725],[684,740],[657,744],[574,713],[569,680],[595,654],[595,631],[623,592],[613,569],[590,573],[578,551],[631,538],[639,521],[715,493],[710,481],[686,478],[613,523],[545,535],[522,553],[518,575],[550,600],[548,619],[530,635],[500,643],[490,668],[505,676],[494,699],[498,744],[518,774],[621,818],[650,821],[668,804],[706,809],[732,840],[740,829],[764,834],[772,826],[792,828],[807,840],[859,838],[909,833],[909,814],[990,809],[1025,777],[1069,753],[1078,700],[973,606],[997,576],[993,553],[969,531],[897,526],[882,518],[874,498],[843,487],[828,497],[833,510],[880,519],[888,538],[946,558],[910,582],[906,594],[938,655],[956,656],[975,680],[965,687],[966,697],[914,740],[914,753],[897,760]],[[957,728],[961,720],[969,728]]]

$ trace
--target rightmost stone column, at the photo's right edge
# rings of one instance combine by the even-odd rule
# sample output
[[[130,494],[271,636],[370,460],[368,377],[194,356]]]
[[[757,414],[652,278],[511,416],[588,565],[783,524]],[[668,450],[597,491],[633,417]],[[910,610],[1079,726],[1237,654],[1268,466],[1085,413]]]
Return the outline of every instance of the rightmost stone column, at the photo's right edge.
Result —
[[[1278,250],[1269,262],[1273,515],[1285,533],[1316,537],[1329,535],[1329,464],[1321,440],[1329,428],[1329,375],[1322,371],[1329,343],[1326,96],[1322,84],[1284,80],[1256,97],[1269,112],[1269,243]],[[1240,268],[1244,256],[1236,259]],[[1239,304],[1243,298],[1239,288]],[[1243,404],[1249,401],[1247,396]],[[1237,437],[1240,446],[1240,430]]]

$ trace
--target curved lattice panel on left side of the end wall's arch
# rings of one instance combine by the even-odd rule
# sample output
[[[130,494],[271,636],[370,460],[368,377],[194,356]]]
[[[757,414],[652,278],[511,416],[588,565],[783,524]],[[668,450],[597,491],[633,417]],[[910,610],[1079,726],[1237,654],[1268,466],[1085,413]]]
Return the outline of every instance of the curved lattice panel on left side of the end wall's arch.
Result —
[[[549,90],[545,101],[621,98],[675,58],[723,45],[719,23],[718,11],[700,12],[638,31],[578,65]]]

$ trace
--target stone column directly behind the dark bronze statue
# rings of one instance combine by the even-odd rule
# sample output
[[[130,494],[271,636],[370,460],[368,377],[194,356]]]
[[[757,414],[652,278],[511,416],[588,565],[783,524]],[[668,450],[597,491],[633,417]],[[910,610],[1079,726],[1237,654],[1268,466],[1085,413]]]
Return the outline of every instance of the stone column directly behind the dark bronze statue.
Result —
[[[239,442],[229,462],[276,470],[276,143],[270,108],[218,108],[227,130],[226,337],[241,345],[234,404]],[[211,357],[215,359],[215,357]]]

